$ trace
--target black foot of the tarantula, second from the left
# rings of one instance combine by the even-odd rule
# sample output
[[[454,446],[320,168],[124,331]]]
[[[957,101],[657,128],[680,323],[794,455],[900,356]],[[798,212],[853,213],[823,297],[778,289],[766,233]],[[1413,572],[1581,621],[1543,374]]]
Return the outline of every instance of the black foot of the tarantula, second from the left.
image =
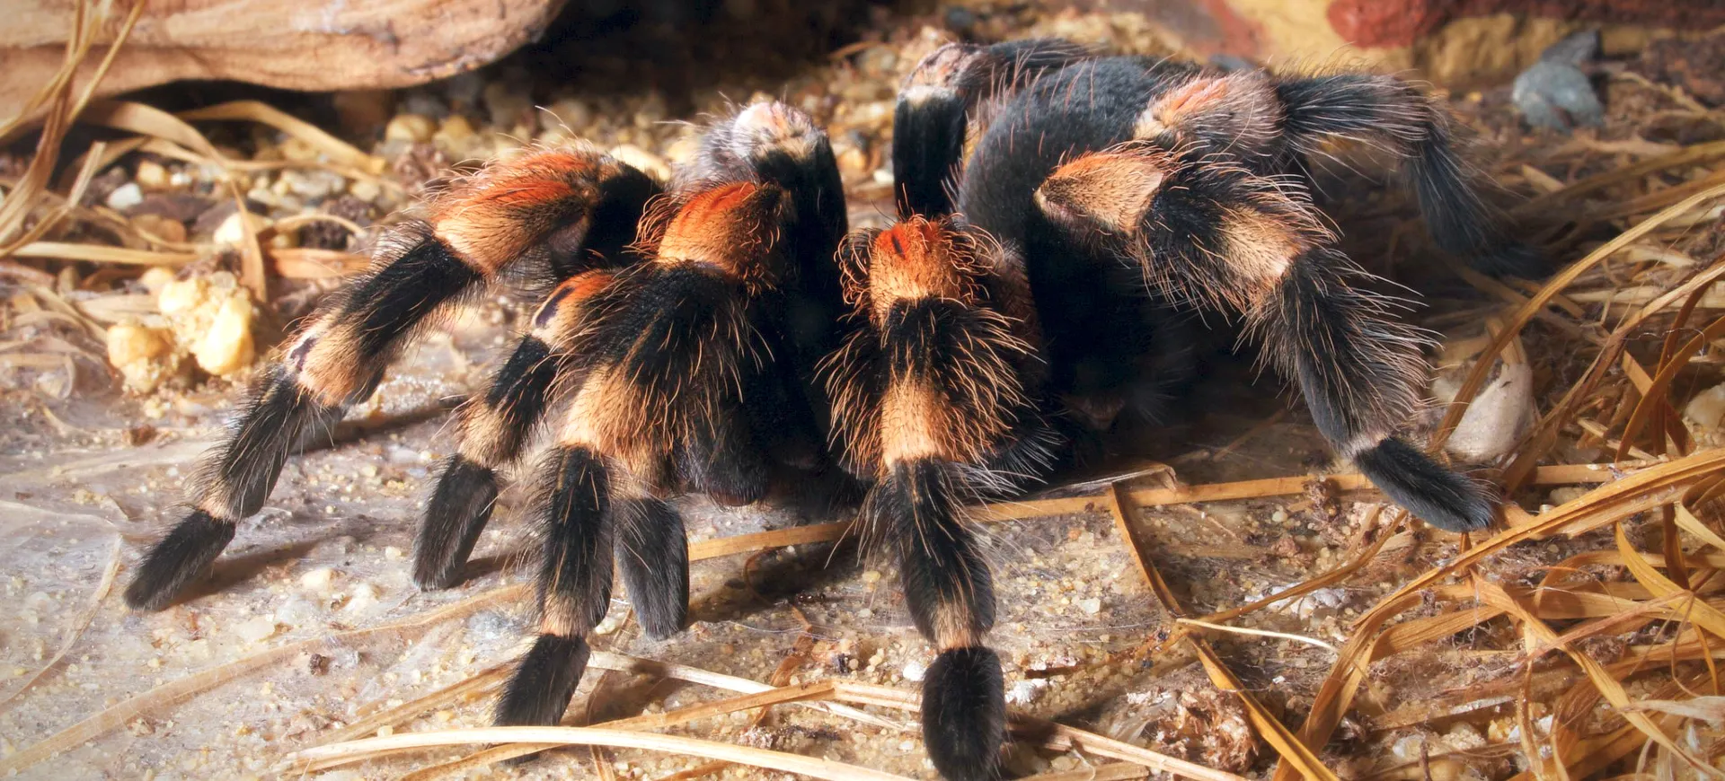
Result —
[[[426,507],[424,529],[414,550],[414,584],[424,591],[461,583],[473,545],[492,519],[497,474],[452,455]]]

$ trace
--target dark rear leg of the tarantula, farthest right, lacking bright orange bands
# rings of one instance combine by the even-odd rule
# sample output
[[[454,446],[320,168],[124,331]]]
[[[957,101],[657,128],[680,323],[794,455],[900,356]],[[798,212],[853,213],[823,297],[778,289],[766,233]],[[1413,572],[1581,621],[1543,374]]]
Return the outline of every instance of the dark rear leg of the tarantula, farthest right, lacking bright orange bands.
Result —
[[[1314,153],[1328,138],[1389,148],[1406,160],[1406,178],[1439,248],[1492,274],[1542,278],[1544,259],[1509,234],[1485,203],[1478,176],[1456,150],[1454,122],[1432,98],[1394,76],[1339,74],[1275,86],[1285,107],[1287,143]]]

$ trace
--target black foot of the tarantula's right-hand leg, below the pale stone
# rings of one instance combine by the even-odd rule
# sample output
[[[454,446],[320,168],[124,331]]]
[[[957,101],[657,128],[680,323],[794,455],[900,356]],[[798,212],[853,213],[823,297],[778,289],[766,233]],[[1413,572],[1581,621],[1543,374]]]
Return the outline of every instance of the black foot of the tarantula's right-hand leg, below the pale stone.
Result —
[[[1444,531],[1490,526],[1490,497],[1468,478],[1427,459],[1411,445],[1387,438],[1354,455],[1354,465],[1396,503]]]

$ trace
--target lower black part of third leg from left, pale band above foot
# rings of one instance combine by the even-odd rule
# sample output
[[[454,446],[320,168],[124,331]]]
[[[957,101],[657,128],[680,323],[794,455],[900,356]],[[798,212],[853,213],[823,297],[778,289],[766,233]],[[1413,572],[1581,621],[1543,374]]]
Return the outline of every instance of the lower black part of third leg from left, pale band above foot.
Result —
[[[557,724],[581,683],[586,634],[611,607],[611,476],[585,447],[559,447],[540,469],[543,559],[540,634],[516,665],[493,721]]]

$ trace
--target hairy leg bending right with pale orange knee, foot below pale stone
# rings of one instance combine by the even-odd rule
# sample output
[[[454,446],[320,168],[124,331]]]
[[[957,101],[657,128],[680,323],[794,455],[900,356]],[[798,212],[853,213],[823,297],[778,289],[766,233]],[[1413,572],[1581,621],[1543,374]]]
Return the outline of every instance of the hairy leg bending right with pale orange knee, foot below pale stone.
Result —
[[[1421,403],[1427,338],[1363,286],[1370,274],[1330,247],[1302,193],[1130,143],[1063,166],[1037,203],[1138,264],[1170,300],[1244,314],[1325,438],[1402,507],[1451,531],[1492,521],[1480,486],[1396,438]]]

